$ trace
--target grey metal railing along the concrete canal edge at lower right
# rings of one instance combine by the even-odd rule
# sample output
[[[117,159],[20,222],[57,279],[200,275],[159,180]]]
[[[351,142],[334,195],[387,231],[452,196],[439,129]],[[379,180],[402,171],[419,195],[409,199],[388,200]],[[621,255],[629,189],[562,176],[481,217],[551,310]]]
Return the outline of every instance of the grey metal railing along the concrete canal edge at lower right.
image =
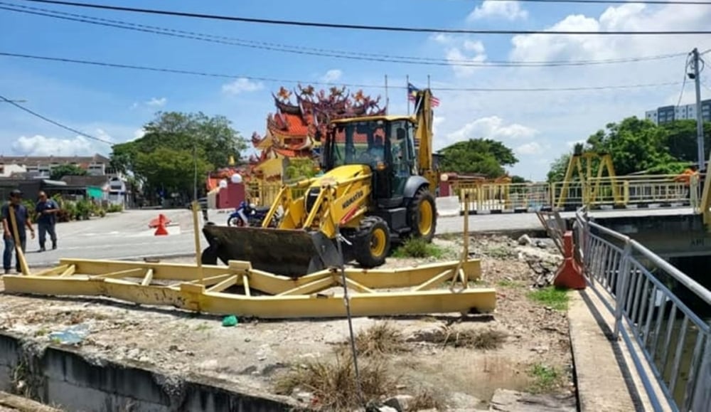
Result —
[[[590,222],[584,208],[574,226],[585,276],[614,313],[615,337],[624,339],[655,411],[663,400],[673,411],[711,411],[711,327],[671,285],[685,287],[707,307],[711,292],[640,243]],[[665,399],[656,396],[651,379]]]

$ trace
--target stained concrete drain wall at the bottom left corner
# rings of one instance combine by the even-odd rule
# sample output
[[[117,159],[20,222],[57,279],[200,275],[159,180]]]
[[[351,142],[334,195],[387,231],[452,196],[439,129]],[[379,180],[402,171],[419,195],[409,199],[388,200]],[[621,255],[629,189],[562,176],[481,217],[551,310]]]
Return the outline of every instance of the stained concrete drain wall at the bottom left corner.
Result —
[[[99,363],[99,364],[97,364]],[[206,378],[183,379],[0,333],[0,390],[68,411],[294,411],[289,398],[240,393]]]

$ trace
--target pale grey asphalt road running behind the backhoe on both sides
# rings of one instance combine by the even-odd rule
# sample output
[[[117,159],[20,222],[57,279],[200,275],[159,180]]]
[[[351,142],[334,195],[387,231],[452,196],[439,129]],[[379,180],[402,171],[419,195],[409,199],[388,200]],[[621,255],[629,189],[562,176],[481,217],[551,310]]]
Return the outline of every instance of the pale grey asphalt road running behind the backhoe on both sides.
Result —
[[[149,221],[163,213],[172,223],[168,226],[168,236],[154,236],[154,229],[148,227]],[[599,211],[591,213],[593,217],[615,217],[634,215],[670,215],[688,214],[689,208],[678,209],[643,209],[639,211]],[[210,220],[225,225],[227,213],[210,212]],[[562,213],[570,218],[573,213]],[[199,218],[198,225],[203,225]],[[437,233],[458,233],[464,226],[464,217],[440,217],[437,221]],[[510,213],[498,215],[469,216],[471,232],[517,231],[542,229],[535,213]],[[58,250],[38,253],[37,239],[28,239],[26,258],[32,266],[53,265],[60,258],[82,259],[129,259],[154,256],[188,255],[194,253],[192,215],[188,210],[131,210],[112,213],[105,218],[90,221],[59,223]],[[206,243],[202,237],[201,249]],[[49,241],[48,241],[49,244]]]

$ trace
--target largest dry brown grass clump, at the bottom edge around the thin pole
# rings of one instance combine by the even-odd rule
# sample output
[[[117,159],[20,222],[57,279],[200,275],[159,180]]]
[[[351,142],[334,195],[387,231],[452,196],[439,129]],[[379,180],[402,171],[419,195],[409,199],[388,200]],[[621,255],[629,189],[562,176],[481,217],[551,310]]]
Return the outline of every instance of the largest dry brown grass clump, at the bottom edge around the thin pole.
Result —
[[[397,381],[385,361],[363,359],[358,362],[363,401],[378,401],[395,393]],[[353,411],[362,407],[355,383],[355,369],[350,356],[336,354],[333,361],[310,361],[277,378],[274,391],[291,395],[295,389],[312,395],[312,406],[322,411]]]

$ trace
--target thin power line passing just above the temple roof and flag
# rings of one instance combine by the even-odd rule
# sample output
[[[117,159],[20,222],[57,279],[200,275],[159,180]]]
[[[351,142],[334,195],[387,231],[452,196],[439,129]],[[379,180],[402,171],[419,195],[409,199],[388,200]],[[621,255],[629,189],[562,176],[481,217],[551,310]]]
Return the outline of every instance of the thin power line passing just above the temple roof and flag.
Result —
[[[383,88],[384,87],[383,85],[331,83],[331,82],[318,82],[318,81],[312,82],[312,81],[308,81],[308,80],[288,80],[288,79],[255,77],[255,76],[247,76],[247,75],[229,75],[229,74],[224,74],[224,73],[207,73],[207,72],[198,72],[198,71],[193,71],[193,70],[181,70],[181,69],[173,69],[173,68],[155,68],[155,67],[149,67],[149,66],[143,66],[143,65],[129,65],[129,64],[123,64],[123,63],[107,63],[107,62],[99,62],[99,61],[92,61],[92,60],[77,60],[77,59],[71,59],[71,58],[33,56],[33,55],[21,54],[21,53],[0,52],[0,56],[15,57],[15,58],[27,58],[27,59],[35,59],[35,60],[50,60],[50,61],[58,61],[58,62],[63,62],[63,63],[97,65],[97,66],[103,66],[103,67],[124,68],[124,69],[132,69],[132,70],[148,70],[148,71],[154,71],[154,72],[176,73],[176,74],[183,74],[183,75],[199,75],[199,76],[213,77],[213,78],[230,78],[230,79],[244,78],[247,80],[262,81],[262,82],[269,82],[269,83],[294,83],[294,84],[307,83],[307,84],[312,84],[312,85],[328,85],[328,86],[341,85],[341,86],[346,86],[348,88]],[[647,84],[636,84],[636,85],[581,86],[581,87],[570,87],[570,88],[432,88],[432,89],[437,90],[438,92],[562,92],[562,91],[583,91],[583,90],[608,90],[608,89],[614,90],[614,89],[653,88],[653,87],[678,85],[678,84],[680,84],[680,82],[647,83]],[[390,86],[389,88],[407,89],[407,87],[405,87],[405,86]]]

